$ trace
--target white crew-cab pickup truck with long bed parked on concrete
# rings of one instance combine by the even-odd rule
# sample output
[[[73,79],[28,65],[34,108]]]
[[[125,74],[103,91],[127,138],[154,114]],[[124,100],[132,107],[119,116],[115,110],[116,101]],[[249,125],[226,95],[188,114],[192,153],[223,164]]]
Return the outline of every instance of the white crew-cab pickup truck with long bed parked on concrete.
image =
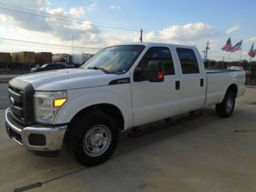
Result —
[[[6,131],[39,155],[68,152],[85,166],[106,161],[119,133],[215,105],[228,117],[244,71],[206,72],[196,47],[136,43],[102,49],[80,69],[10,81]]]

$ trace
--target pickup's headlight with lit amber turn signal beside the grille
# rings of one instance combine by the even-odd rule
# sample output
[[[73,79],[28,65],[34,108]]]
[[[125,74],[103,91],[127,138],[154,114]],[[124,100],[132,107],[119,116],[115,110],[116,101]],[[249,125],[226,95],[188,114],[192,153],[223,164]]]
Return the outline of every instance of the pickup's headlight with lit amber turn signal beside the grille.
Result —
[[[36,91],[34,95],[35,121],[37,123],[52,123],[55,114],[67,100],[66,91]]]

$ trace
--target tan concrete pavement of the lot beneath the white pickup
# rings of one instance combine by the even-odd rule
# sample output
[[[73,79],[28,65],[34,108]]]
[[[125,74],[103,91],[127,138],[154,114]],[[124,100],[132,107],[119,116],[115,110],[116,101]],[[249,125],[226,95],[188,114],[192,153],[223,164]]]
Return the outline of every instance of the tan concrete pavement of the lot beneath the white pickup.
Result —
[[[256,191],[256,89],[246,89],[235,112],[205,116],[130,139],[121,135],[109,161],[86,168],[63,147],[37,157],[8,139],[0,110],[0,191]],[[30,187],[28,187],[30,188]]]

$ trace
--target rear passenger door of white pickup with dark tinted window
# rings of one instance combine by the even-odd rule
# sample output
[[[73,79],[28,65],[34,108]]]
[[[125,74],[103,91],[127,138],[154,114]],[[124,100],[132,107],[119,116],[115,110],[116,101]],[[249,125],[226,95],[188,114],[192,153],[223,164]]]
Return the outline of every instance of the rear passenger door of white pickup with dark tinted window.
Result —
[[[174,46],[180,73],[180,107],[183,112],[200,109],[206,98],[206,75],[196,48]]]

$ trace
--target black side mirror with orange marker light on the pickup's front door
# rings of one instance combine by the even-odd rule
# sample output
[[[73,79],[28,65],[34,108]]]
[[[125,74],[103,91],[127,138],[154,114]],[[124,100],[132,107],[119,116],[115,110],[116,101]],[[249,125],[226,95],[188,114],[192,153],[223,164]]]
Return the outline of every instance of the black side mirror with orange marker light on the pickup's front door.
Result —
[[[163,82],[165,79],[164,67],[161,61],[151,61],[148,68],[138,68],[135,73],[137,81]]]

